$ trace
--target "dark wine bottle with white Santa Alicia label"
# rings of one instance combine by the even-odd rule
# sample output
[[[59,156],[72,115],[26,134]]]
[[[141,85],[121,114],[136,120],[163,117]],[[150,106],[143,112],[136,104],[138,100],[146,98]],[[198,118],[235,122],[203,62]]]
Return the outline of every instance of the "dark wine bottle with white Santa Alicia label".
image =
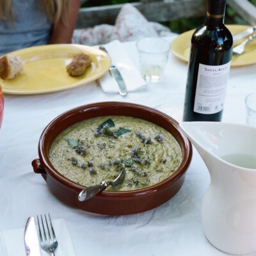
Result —
[[[191,38],[183,121],[221,121],[233,47],[225,8],[226,0],[208,0],[206,22]]]

